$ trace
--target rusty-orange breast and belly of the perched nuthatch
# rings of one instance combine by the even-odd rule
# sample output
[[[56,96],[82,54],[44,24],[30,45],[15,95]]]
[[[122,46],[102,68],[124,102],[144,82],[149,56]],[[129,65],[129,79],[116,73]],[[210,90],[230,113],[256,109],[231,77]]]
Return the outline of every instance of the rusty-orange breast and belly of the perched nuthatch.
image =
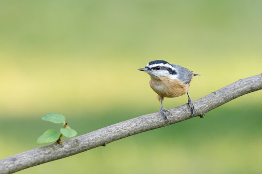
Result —
[[[178,97],[188,91],[190,83],[183,84],[179,79],[160,77],[151,78],[149,85],[161,97]]]

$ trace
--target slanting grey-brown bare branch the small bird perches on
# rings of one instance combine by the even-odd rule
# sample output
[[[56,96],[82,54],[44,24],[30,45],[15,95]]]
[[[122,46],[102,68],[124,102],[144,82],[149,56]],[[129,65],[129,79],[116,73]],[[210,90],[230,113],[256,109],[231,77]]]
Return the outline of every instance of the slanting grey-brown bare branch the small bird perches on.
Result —
[[[197,113],[201,116],[208,111],[229,102],[244,94],[262,89],[262,74],[258,74],[223,87],[211,94],[194,101]],[[169,109],[170,114],[165,119],[160,112],[147,114],[122,121],[114,125],[93,131],[63,142],[35,148],[26,152],[0,160],[0,174],[11,174],[52,160],[62,159],[83,151],[105,146],[108,143],[144,131],[161,128],[189,118],[192,118],[188,104]]]

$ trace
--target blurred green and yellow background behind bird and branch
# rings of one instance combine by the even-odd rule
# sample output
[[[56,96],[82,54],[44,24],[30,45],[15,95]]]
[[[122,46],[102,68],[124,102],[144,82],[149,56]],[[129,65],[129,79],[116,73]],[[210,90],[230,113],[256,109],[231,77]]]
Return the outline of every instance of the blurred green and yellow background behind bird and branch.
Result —
[[[262,73],[261,0],[0,0],[0,159],[41,145],[66,116],[78,135],[157,112],[149,76],[164,59],[203,97]],[[206,114],[21,174],[261,174],[262,91]],[[171,108],[187,96],[165,99]]]

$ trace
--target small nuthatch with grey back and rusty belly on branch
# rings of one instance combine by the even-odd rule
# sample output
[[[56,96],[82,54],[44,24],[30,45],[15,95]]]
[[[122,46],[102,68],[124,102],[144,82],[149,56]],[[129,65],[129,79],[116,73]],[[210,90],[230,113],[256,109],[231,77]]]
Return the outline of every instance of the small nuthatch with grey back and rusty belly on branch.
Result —
[[[192,71],[181,67],[180,65],[170,64],[164,60],[154,60],[147,63],[145,68],[138,69],[150,75],[150,87],[158,94],[158,100],[161,102],[160,111],[166,117],[166,109],[163,107],[164,97],[174,98],[187,93],[188,104],[192,115],[196,110],[191,100],[188,90],[194,76],[200,76]]]

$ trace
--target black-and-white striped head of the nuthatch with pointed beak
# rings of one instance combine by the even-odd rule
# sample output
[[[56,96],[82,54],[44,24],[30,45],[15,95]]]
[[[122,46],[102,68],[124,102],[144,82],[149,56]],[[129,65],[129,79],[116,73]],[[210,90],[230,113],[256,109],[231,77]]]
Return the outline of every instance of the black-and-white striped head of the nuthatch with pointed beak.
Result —
[[[152,78],[167,76],[169,79],[176,79],[178,76],[177,70],[164,60],[150,61],[145,68],[138,70],[148,73]]]

